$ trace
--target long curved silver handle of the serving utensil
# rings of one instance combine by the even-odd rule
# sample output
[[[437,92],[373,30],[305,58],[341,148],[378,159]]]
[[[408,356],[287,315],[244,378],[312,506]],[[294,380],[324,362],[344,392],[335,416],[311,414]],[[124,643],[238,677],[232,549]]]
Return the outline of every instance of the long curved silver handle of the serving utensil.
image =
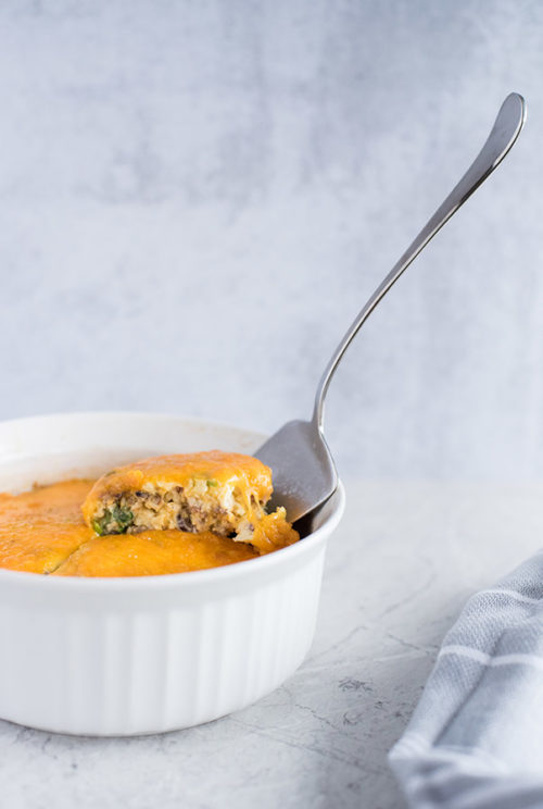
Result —
[[[404,252],[400,261],[394,264],[387,277],[377,287],[367,303],[348,329],[345,336],[332,354],[325,373],[323,374],[315,397],[315,409],[313,411],[313,423],[321,431],[324,422],[325,397],[332,375],[346,351],[353,337],[357,334],[362,324],[371,314],[376,306],[383,298],[391,286],[399,279],[404,270],[428,245],[445,222],[451,219],[458,208],[470,197],[473,191],[487,179],[494,169],[500,165],[516,139],[526,121],[526,102],[522,96],[512,92],[503,102],[492,132],[481,151],[471,163],[466,174],[453,188],[445,201],[438,208],[433,216],[420,231],[413,244]]]

